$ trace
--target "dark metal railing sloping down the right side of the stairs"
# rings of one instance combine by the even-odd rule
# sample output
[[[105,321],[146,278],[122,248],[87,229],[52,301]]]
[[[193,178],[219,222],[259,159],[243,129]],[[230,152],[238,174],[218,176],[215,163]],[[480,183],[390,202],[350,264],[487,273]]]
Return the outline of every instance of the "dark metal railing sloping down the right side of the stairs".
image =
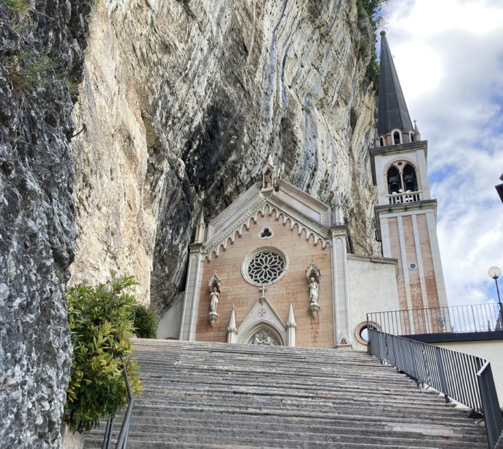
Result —
[[[370,327],[368,332],[369,353],[443,393],[446,402],[452,398],[481,413],[489,447],[494,449],[501,437],[503,419],[489,361]]]

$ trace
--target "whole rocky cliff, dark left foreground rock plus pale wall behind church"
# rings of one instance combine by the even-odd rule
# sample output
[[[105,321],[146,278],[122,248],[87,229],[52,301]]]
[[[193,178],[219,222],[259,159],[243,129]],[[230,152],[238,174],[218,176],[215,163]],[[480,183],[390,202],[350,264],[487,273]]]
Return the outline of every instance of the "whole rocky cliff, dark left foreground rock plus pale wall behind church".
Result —
[[[354,0],[105,0],[89,34],[85,0],[37,0],[21,15],[6,4],[0,447],[52,448],[74,256],[71,282],[134,274],[160,313],[184,288],[201,208],[222,211],[269,153],[326,203],[339,187],[356,251],[377,250],[373,36]]]

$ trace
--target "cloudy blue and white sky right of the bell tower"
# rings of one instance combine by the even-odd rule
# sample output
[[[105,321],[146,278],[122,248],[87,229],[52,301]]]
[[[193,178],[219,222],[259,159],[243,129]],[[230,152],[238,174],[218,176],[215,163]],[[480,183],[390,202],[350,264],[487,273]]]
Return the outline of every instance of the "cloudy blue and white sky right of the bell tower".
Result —
[[[503,267],[503,1],[390,0],[387,39],[438,200],[450,305],[496,300]],[[503,290],[503,280],[499,280]]]

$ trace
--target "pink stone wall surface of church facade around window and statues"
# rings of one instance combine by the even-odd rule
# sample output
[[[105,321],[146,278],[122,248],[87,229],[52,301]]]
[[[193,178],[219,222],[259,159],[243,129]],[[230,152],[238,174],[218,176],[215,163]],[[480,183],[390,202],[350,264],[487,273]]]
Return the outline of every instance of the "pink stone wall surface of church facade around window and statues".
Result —
[[[272,229],[274,233],[272,238],[259,238],[259,232],[264,226]],[[265,245],[278,246],[289,259],[286,274],[279,281],[268,286],[265,296],[285,324],[290,300],[293,301],[297,322],[296,345],[333,347],[330,246],[327,244],[323,249],[321,241],[315,245],[313,236],[306,240],[305,231],[299,235],[297,226],[293,230],[290,229],[290,221],[283,225],[283,217],[277,221],[276,214],[268,215],[267,213],[265,217],[259,215],[256,224],[252,221],[249,230],[243,228],[241,237],[236,234],[234,243],[229,242],[226,250],[220,248],[218,257],[213,254],[211,261],[205,260],[196,340],[227,341],[227,326],[233,305],[236,326],[239,328],[261,296],[259,287],[250,285],[243,279],[241,263],[249,251]],[[321,272],[319,285],[321,309],[316,319],[313,319],[308,311],[309,291],[305,272],[311,260],[314,260]],[[223,289],[218,302],[219,319],[215,326],[211,327],[207,319],[210,301],[208,281],[215,270],[222,281]]]

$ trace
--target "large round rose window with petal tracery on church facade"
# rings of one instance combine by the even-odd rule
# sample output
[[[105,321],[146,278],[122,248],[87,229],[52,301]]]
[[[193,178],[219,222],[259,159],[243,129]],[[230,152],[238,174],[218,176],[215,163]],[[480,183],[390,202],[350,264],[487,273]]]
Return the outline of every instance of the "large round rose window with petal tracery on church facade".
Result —
[[[287,258],[279,248],[263,247],[249,253],[243,260],[241,273],[254,285],[268,285],[278,281],[286,271]]]

